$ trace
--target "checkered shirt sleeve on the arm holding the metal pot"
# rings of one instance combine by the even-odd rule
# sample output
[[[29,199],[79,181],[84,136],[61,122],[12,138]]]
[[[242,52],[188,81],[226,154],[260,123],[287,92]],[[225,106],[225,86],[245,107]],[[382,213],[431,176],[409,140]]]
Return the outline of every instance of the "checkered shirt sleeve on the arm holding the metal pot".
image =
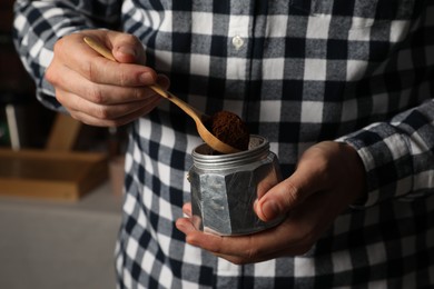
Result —
[[[354,207],[434,192],[434,99],[341,140],[358,151],[366,169],[367,198]]]

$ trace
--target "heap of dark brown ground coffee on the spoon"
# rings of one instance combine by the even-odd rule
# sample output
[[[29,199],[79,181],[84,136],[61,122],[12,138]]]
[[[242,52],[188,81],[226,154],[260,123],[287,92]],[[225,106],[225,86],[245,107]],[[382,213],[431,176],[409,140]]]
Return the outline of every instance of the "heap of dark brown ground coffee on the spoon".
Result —
[[[246,123],[235,113],[221,110],[205,122],[207,129],[220,141],[238,150],[247,150],[250,133]]]

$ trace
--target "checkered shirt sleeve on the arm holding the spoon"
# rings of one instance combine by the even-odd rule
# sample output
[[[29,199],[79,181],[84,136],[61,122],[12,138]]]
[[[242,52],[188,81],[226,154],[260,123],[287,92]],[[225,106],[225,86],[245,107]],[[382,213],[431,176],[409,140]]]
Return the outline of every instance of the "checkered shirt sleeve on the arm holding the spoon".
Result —
[[[48,108],[62,110],[45,71],[58,39],[76,31],[116,28],[121,1],[30,1],[14,3],[13,39],[27,71],[36,82],[37,98]]]

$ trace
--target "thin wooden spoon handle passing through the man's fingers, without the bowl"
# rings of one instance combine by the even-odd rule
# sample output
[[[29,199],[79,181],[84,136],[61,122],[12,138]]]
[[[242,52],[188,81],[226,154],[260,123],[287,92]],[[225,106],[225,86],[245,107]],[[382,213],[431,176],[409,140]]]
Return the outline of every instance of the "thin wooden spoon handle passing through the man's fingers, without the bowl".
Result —
[[[100,53],[102,57],[117,62],[111,51],[107,47],[102,46],[100,42],[95,40],[93,38],[85,37],[83,41],[95,51]],[[184,112],[190,116],[195,121],[200,121],[203,118],[206,118],[206,116],[203,114],[200,111],[196,110],[184,100],[177,98],[174,93],[162,89],[160,86],[152,84],[149,86],[149,88],[152,89],[158,94],[160,94],[161,97],[166,98],[167,100],[174,102],[178,108],[184,110]]]

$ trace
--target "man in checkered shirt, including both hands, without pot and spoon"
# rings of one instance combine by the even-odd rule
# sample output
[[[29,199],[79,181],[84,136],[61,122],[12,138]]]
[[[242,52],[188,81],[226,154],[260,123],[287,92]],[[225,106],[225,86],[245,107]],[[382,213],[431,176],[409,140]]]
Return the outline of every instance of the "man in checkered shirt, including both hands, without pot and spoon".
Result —
[[[434,283],[427,1],[17,1],[16,12],[42,103],[93,126],[132,121],[119,288]],[[200,139],[152,83],[268,138],[285,180],[253,209],[285,215],[279,226],[193,227],[186,172]]]

